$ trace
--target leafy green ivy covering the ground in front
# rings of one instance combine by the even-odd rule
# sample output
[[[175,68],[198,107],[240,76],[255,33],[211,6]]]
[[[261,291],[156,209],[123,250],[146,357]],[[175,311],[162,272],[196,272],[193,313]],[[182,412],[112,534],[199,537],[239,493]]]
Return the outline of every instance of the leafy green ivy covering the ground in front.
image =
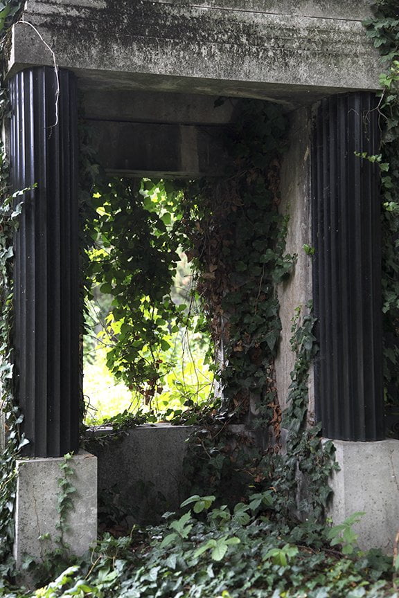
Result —
[[[166,514],[165,523],[134,528],[130,536],[105,534],[91,558],[69,567],[36,592],[4,588],[0,596],[56,598],[388,598],[393,568],[377,551],[346,556],[333,548],[327,529],[276,524],[263,504],[249,508],[245,520],[234,511],[258,502],[250,496],[240,507],[212,509],[209,498],[195,496],[189,505],[206,503],[197,516]],[[268,500],[266,501],[268,502]],[[238,508],[237,508],[238,507]],[[221,517],[220,513],[226,516]],[[351,529],[346,522],[345,529]],[[334,529],[334,528],[332,528]],[[314,537],[317,534],[317,543]],[[332,538],[337,533],[331,534]]]

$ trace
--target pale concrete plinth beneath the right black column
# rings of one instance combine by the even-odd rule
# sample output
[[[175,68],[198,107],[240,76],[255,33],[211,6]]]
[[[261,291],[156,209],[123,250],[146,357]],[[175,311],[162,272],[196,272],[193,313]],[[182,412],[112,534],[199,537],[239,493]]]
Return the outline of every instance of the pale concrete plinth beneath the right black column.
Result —
[[[341,469],[330,482],[334,496],[329,516],[337,525],[364,511],[353,527],[360,548],[391,553],[399,528],[399,440],[332,442]]]

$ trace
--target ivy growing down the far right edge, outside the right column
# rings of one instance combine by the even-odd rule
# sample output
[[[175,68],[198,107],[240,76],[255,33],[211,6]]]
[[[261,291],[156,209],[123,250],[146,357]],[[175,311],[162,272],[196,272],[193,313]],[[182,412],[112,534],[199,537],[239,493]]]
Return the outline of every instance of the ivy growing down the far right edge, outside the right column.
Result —
[[[378,111],[382,129],[382,311],[384,381],[388,404],[399,401],[399,12],[396,0],[378,0],[375,17],[364,22],[382,55],[384,73]],[[371,159],[370,157],[368,159]]]

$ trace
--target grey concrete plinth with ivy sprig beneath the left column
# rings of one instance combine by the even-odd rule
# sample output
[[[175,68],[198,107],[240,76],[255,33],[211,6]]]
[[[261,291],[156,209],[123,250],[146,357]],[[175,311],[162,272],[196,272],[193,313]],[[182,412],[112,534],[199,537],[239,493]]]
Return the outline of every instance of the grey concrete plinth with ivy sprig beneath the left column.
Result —
[[[14,556],[19,569],[26,556],[41,560],[57,547],[58,480],[62,478],[63,462],[63,457],[17,461]],[[70,463],[75,471],[71,484],[76,492],[71,494],[73,510],[69,512],[64,542],[80,556],[97,537],[97,458],[80,451]],[[49,534],[49,539],[39,540],[44,534]]]

